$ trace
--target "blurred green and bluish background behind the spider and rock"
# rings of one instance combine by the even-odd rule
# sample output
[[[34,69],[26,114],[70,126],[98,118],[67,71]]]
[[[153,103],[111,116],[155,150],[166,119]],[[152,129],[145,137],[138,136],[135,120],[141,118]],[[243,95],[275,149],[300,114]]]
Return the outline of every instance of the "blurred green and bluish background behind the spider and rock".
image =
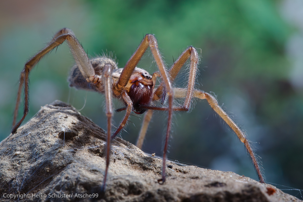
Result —
[[[0,140],[10,134],[18,78],[25,61],[63,27],[92,57],[114,51],[124,67],[143,36],[154,34],[167,66],[189,45],[201,54],[197,88],[218,101],[254,142],[266,181],[303,189],[303,3],[300,0],[0,2]],[[106,129],[104,96],[68,87],[74,59],[66,44],[30,75],[30,113],[54,100],[69,102]],[[147,52],[138,65],[157,66]],[[185,75],[184,73],[183,75]],[[180,76],[175,86],[183,86]],[[205,100],[174,116],[169,158],[257,179],[238,141]],[[121,105],[115,102],[115,108]],[[19,118],[22,114],[22,106]],[[114,116],[118,126],[124,113]],[[162,155],[165,113],[156,113],[143,151]],[[143,117],[142,117],[143,118]],[[121,136],[136,143],[142,118]],[[290,189],[278,186],[280,189]],[[285,190],[299,198],[298,190]]]

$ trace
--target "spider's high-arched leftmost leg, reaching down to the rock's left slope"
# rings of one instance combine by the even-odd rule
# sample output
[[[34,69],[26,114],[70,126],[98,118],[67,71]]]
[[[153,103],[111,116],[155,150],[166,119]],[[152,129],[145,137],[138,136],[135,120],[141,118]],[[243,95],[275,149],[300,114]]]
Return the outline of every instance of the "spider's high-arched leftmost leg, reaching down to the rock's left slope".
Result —
[[[42,59],[45,55],[47,55],[50,51],[52,51],[54,48],[56,48],[58,45],[62,44],[65,40],[68,42],[68,46],[72,51],[72,54],[75,58],[75,61],[79,67],[79,70],[81,71],[82,75],[88,82],[97,83],[99,80],[99,76],[95,74],[95,71],[92,67],[91,61],[89,60],[87,54],[83,50],[80,42],[75,37],[74,33],[68,29],[63,28],[62,30],[58,31],[54,38],[48,43],[48,45],[43,48],[41,51],[39,51],[35,56],[33,56],[30,60],[28,60],[25,63],[24,70],[21,72],[20,76],[20,84],[19,84],[19,90],[17,95],[17,102],[14,112],[14,123],[15,123],[15,117],[18,114],[18,106],[20,102],[20,96],[21,96],[21,89],[24,82],[24,112],[23,117],[21,120],[13,127],[12,133],[15,133],[17,128],[21,125],[22,121],[25,119],[25,116],[28,114],[28,75],[29,72],[32,70],[32,68]]]

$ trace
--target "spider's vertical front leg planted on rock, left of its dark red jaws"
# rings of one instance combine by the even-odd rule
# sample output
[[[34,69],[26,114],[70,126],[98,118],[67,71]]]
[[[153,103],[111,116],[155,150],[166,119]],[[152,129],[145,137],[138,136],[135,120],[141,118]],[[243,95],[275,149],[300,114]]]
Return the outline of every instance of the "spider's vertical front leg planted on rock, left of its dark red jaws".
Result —
[[[107,116],[107,141],[106,141],[106,167],[103,179],[102,191],[106,186],[106,177],[109,166],[109,155],[111,150],[111,133],[112,133],[112,65],[105,65],[103,72],[103,84],[105,91],[106,116]]]

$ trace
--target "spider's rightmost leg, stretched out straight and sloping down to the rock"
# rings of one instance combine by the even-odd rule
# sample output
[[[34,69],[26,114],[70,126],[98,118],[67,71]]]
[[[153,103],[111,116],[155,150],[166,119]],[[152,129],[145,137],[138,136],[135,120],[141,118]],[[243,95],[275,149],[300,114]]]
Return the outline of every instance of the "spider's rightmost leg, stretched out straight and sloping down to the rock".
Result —
[[[175,97],[176,98],[185,98],[187,96],[188,92],[186,88],[174,88],[175,91]],[[214,96],[212,96],[209,93],[205,93],[203,91],[194,90],[193,96],[200,99],[206,99],[208,101],[208,104],[211,106],[211,108],[228,124],[228,126],[231,128],[232,131],[235,132],[235,134],[238,136],[241,142],[244,143],[245,148],[251,157],[251,160],[255,166],[255,169],[257,171],[259,180],[261,183],[264,182],[264,177],[261,171],[261,167],[259,165],[259,162],[256,158],[256,155],[251,148],[249,144],[249,140],[246,138],[245,133],[238,127],[237,124],[228,116],[228,114],[219,106],[218,101]]]

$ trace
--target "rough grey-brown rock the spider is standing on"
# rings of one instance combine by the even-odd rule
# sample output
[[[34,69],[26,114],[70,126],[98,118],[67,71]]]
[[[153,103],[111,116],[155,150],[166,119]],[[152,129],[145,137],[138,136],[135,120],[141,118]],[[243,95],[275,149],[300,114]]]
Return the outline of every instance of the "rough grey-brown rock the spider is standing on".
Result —
[[[121,138],[112,142],[107,187],[102,194],[104,145],[104,130],[75,108],[61,101],[45,105],[0,143],[0,200],[12,200],[3,196],[6,193],[29,194],[30,198],[14,199],[20,201],[301,201],[232,172],[172,162],[167,164],[166,182],[158,184],[161,159]],[[98,198],[75,197],[96,193]],[[52,194],[73,196],[50,197]]]

